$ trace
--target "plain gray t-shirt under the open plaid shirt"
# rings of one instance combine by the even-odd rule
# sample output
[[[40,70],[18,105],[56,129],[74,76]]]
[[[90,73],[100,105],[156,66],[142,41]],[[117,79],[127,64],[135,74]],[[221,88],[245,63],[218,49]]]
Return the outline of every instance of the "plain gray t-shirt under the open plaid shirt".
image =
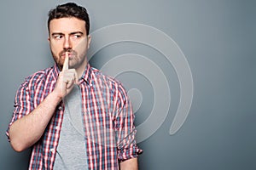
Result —
[[[81,111],[81,94],[74,86],[65,99],[61,136],[55,157],[55,170],[88,169]]]

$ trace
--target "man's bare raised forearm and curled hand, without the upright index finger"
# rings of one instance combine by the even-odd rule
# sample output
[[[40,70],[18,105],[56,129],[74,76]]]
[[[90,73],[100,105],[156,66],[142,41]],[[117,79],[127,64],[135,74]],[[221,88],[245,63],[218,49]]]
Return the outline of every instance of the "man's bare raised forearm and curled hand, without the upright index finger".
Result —
[[[41,138],[56,106],[72,90],[75,82],[78,82],[78,77],[74,69],[61,71],[53,92],[32,112],[13,122],[9,127],[9,140],[14,150],[26,150]]]

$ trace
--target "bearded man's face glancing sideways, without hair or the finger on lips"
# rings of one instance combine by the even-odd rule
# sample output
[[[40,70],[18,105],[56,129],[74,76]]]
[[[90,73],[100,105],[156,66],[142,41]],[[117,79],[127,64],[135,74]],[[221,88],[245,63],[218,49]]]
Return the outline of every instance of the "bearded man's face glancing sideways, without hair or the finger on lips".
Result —
[[[77,18],[61,18],[49,23],[49,47],[60,70],[68,51],[69,68],[84,71],[90,36],[86,35],[85,22]]]

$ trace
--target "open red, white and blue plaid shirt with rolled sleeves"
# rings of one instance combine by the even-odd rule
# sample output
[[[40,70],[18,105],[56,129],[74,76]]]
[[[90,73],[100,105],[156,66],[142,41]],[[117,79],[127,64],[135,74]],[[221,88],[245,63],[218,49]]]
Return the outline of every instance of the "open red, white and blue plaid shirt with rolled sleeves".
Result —
[[[55,88],[57,65],[38,71],[20,85],[9,126],[33,111]],[[119,169],[119,161],[143,152],[135,141],[134,115],[125,89],[88,64],[79,79],[89,169]],[[56,107],[41,139],[32,147],[29,169],[53,169],[65,105]],[[6,132],[9,137],[9,128]]]

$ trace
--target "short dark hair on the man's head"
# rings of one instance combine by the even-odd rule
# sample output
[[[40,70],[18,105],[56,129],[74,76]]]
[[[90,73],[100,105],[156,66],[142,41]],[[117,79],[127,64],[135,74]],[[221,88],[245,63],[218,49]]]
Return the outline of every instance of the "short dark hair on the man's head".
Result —
[[[49,31],[49,22],[54,19],[75,17],[79,20],[85,21],[85,29],[87,35],[90,31],[90,20],[89,14],[87,13],[86,8],[77,5],[76,3],[65,3],[58,5],[56,8],[49,10],[48,14],[48,31]]]

